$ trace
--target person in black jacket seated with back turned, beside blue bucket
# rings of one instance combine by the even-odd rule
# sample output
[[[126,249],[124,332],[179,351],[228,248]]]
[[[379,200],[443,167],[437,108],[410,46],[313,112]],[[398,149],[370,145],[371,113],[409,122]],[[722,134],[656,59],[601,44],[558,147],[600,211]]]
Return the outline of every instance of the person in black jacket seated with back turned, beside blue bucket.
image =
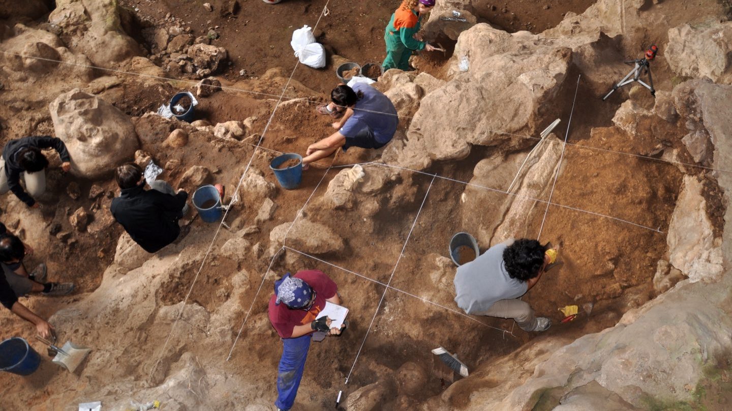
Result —
[[[167,182],[156,180],[145,190],[145,176],[135,163],[125,163],[114,173],[122,193],[112,200],[110,210],[145,251],[154,253],[178,238],[178,220],[188,211],[188,193],[173,191]]]

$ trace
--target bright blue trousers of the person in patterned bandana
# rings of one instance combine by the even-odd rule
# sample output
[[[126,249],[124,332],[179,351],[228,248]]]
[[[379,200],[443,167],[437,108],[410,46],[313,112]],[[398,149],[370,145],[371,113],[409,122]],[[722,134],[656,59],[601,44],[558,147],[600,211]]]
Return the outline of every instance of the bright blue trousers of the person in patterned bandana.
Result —
[[[311,334],[296,338],[283,338],[282,358],[277,367],[277,401],[275,407],[289,410],[295,403],[302,371],[305,370],[307,350],[310,349]]]

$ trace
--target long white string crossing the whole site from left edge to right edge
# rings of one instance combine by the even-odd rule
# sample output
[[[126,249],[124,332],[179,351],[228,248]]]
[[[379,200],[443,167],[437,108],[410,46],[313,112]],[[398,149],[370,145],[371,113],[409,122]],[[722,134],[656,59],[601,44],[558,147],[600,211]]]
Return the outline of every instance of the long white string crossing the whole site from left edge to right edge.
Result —
[[[323,16],[323,13],[321,13],[321,18],[322,18],[322,16]],[[320,22],[320,19],[321,18],[318,18],[318,23]],[[315,31],[315,28],[313,28],[313,32],[314,31]],[[150,74],[143,74],[143,73],[133,73],[133,72],[126,71],[126,70],[119,70],[119,69],[111,69],[111,68],[105,68],[105,67],[98,67],[98,66],[94,66],[94,65],[91,65],[91,64],[81,64],[81,63],[74,63],[74,62],[62,62],[61,60],[48,59],[48,58],[45,58],[45,57],[29,56],[29,55],[22,54],[22,53],[13,53],[11,51],[0,51],[0,53],[4,53],[7,56],[18,56],[18,57],[21,57],[23,59],[37,59],[37,60],[41,60],[41,61],[44,61],[44,62],[53,62],[53,63],[59,63],[59,64],[67,64],[67,65],[70,65],[70,66],[90,68],[90,69],[93,69],[93,70],[103,70],[103,71],[109,71],[109,72],[112,72],[112,73],[127,74],[127,75],[144,77],[144,78],[155,78],[157,80],[162,80],[162,81],[172,81],[173,80],[171,78],[160,77],[159,75],[150,75]],[[296,63],[296,66],[295,67],[297,67],[297,64],[299,64],[299,62]],[[287,86],[289,85],[291,79],[292,79],[292,75],[288,79],[287,84],[285,84],[285,87],[283,89],[283,94],[281,94],[281,95],[272,95],[272,94],[269,94],[269,93],[255,92],[253,90],[239,89],[239,88],[230,87],[230,86],[212,86],[212,87],[217,88],[217,89],[222,89],[222,90],[228,90],[228,91],[232,91],[232,92],[242,92],[244,94],[250,94],[250,95],[258,95],[258,96],[263,96],[263,97],[277,97],[277,101],[279,103],[283,99],[283,97],[285,97],[285,92],[286,92]],[[195,85],[198,84],[198,82],[196,82],[196,81],[189,81],[189,80],[183,80],[183,79],[181,79],[181,80],[175,79],[175,81],[177,83],[190,84],[192,86],[195,86]],[[296,97],[296,96],[286,96],[286,97],[288,98],[288,100],[289,99],[299,98],[299,97]],[[307,103],[310,103],[310,104],[318,104],[318,103],[321,103],[319,101],[310,100],[310,99],[307,99],[307,98],[300,98],[300,100],[302,100],[304,102],[307,102]],[[382,115],[385,115],[385,116],[397,116],[400,119],[414,119],[415,118],[414,116],[405,116],[405,115],[398,115],[398,114],[395,115],[395,114],[391,114],[391,113],[384,113],[384,112],[381,112],[381,111],[365,110],[363,108],[351,108],[351,109],[352,110],[355,110],[355,111],[365,111],[367,113],[373,113],[373,114],[382,114]],[[424,121],[424,122],[441,122],[440,120],[433,120],[433,119],[427,118],[426,116],[422,116],[422,118],[420,118],[420,120],[421,121]],[[461,127],[463,129],[465,129],[465,130],[474,130],[474,131],[477,130],[476,127],[466,127],[466,126],[461,126]],[[524,134],[517,134],[517,133],[508,133],[508,132],[499,131],[499,130],[488,130],[488,129],[484,129],[483,131],[485,131],[486,133],[499,134],[499,135],[502,135],[502,136],[512,136],[512,137],[524,138],[524,139],[529,139],[529,140],[541,140],[541,138],[534,137],[534,136],[527,136],[527,135],[524,135]],[[548,141],[548,142],[550,144],[561,144],[561,141]],[[684,163],[683,161],[678,161],[678,160],[667,160],[667,159],[662,159],[662,158],[654,158],[654,157],[651,157],[649,155],[641,155],[641,154],[635,154],[635,153],[631,153],[631,152],[621,152],[621,151],[617,151],[617,150],[603,149],[601,147],[585,146],[585,145],[577,144],[577,143],[569,143],[569,142],[567,142],[567,143],[564,143],[564,145],[565,146],[569,146],[569,147],[580,147],[580,148],[583,148],[583,149],[589,149],[589,150],[598,151],[598,152],[607,152],[607,153],[612,153],[612,154],[616,154],[616,155],[627,155],[627,156],[630,156],[630,157],[640,158],[640,159],[643,159],[643,160],[651,160],[651,161],[654,161],[656,163],[665,163],[665,164],[670,164],[670,165],[673,165],[673,166],[686,166],[686,167],[692,167],[692,168],[696,168],[696,169],[703,169],[703,170],[707,170],[707,171],[718,171],[718,172],[721,172],[721,173],[731,173],[732,174],[732,170],[715,169],[714,167],[701,166],[701,165],[694,164],[694,163]]]

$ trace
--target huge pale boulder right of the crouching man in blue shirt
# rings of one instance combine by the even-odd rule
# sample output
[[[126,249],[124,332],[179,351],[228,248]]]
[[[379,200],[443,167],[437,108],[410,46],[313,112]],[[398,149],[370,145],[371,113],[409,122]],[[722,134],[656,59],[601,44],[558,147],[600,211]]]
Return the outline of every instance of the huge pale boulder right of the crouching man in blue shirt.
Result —
[[[571,62],[571,49],[529,32],[508,34],[485,23],[463,32],[449,62],[452,80],[425,95],[412,119],[403,150],[419,158],[409,158],[410,166],[466,158],[475,144],[528,146],[511,135],[533,134],[539,113],[556,110]]]

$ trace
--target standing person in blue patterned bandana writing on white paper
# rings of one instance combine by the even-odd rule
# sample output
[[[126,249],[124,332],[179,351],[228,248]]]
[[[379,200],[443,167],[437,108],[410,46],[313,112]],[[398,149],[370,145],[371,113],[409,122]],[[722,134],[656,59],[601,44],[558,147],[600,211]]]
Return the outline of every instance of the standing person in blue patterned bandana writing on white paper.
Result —
[[[269,322],[282,338],[283,351],[277,367],[277,410],[290,410],[295,402],[297,388],[305,371],[310,339],[322,341],[329,333],[340,334],[330,328],[330,319],[315,319],[325,308],[326,301],[340,304],[338,286],[318,270],[287,273],[275,281],[275,295],[269,299]]]

